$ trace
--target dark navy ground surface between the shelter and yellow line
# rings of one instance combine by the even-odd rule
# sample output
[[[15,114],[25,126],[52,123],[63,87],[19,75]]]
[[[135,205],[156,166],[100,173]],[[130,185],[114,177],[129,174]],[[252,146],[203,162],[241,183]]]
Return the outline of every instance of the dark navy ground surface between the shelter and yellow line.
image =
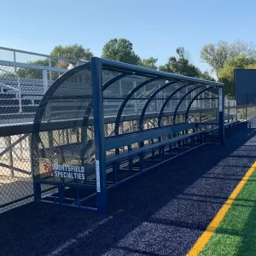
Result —
[[[0,255],[185,255],[256,158],[256,120],[109,191],[109,215],[34,203],[0,215]]]

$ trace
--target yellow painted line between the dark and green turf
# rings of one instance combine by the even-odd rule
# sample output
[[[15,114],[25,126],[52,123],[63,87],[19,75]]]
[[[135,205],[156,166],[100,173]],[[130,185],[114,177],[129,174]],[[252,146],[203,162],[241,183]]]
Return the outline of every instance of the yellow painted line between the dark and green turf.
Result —
[[[226,213],[229,211],[232,203],[236,200],[237,195],[240,193],[241,189],[247,183],[248,178],[253,174],[254,169],[256,168],[256,161],[253,163],[253,166],[247,171],[244,177],[242,177],[241,182],[237,184],[236,189],[233,190],[229,199],[225,201],[223,207],[219,210],[216,216],[212,219],[212,222],[207,226],[207,230],[202,233],[199,239],[195,242],[195,245],[191,248],[187,256],[196,256],[201,253],[202,249],[210,241],[213,233],[218,228],[218,225],[224,219]]]

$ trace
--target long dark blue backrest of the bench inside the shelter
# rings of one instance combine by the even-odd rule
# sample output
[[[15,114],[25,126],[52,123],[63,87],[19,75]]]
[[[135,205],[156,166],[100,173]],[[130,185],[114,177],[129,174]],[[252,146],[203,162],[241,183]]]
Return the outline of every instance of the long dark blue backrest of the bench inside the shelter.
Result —
[[[121,135],[120,137],[113,137],[105,140],[106,151],[113,148],[120,148],[133,143],[141,143],[148,139],[153,139],[157,137],[168,136],[173,133],[180,131],[186,131],[190,129],[195,129],[194,123],[182,123],[177,125],[167,125],[158,128],[153,128],[145,131],[137,131],[128,133],[126,135]]]

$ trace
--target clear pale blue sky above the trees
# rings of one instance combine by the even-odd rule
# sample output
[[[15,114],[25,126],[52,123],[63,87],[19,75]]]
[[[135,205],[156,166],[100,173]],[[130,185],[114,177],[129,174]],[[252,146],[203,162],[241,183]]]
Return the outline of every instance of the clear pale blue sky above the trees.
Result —
[[[256,43],[255,9],[253,0],[3,0],[0,46],[49,54],[56,44],[83,44],[101,56],[109,39],[127,38],[137,55],[158,64],[183,46],[206,70],[204,44]]]

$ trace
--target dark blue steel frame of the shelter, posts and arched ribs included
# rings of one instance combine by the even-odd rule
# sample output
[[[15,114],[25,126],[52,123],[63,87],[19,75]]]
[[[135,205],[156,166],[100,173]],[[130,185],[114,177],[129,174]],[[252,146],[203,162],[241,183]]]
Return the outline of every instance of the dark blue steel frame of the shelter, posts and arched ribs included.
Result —
[[[182,90],[183,88],[189,86],[190,84],[201,84],[193,88],[192,90],[189,90],[177,103],[177,108],[175,109],[173,120],[175,122],[177,110],[183,100],[188,96],[192,91],[197,90],[201,87],[207,86],[206,89],[201,90],[194,98],[191,99],[191,102],[189,102],[189,108],[191,107],[192,103],[195,101],[197,96],[199,96],[203,91],[208,90],[212,87],[218,87],[219,90],[219,135],[221,138],[221,143],[224,143],[224,84],[207,81],[203,79],[195,79],[195,78],[189,78],[183,75],[177,75],[173,73],[166,73],[161,72],[157,70],[152,70],[146,67],[137,67],[130,64],[121,63],[118,61],[110,61],[106,59],[101,59],[97,57],[92,57],[91,61],[89,63],[86,63],[84,65],[81,65],[79,67],[75,67],[72,70],[68,71],[67,73],[63,74],[60,79],[57,79],[55,83],[49,88],[47,93],[44,96],[44,99],[40,103],[36,118],[34,120],[33,130],[32,133],[37,134],[39,132],[39,126],[40,126],[40,117],[44,113],[44,110],[47,106],[47,103],[50,99],[50,97],[53,95],[55,90],[58,89],[58,87],[69,77],[71,77],[74,73],[79,73],[79,71],[85,69],[85,68],[91,68],[91,80],[92,80],[92,97],[93,102],[96,102],[96,104],[93,104],[93,119],[94,119],[94,135],[95,135],[95,150],[96,150],[96,197],[97,197],[97,210],[101,214],[107,214],[108,213],[108,203],[107,203],[107,189],[112,189],[113,185],[107,188],[106,183],[106,151],[105,151],[105,135],[104,135],[104,109],[103,109],[103,91],[106,90],[111,84],[118,81],[119,79],[125,78],[126,76],[131,75],[138,75],[148,78],[148,80],[144,81],[141,84],[138,84],[137,87],[135,87],[133,90],[131,90],[127,96],[123,99],[123,102],[121,103],[121,106],[119,108],[119,112],[117,113],[116,121],[115,121],[115,136],[119,135],[119,124],[121,121],[121,116],[123,113],[123,110],[125,108],[126,103],[131,99],[131,96],[134,95],[134,93],[139,90],[140,88],[143,88],[146,84],[153,82],[155,80],[159,79],[166,79],[168,82],[166,84],[163,84],[154,91],[154,93],[149,97],[146,98],[147,102],[145,103],[143,107],[143,111],[140,117],[140,123],[139,123],[139,130],[143,130],[143,119],[145,117],[145,113],[147,111],[147,108],[150,104],[150,102],[154,99],[154,96],[156,96],[161,90],[164,90],[167,86],[172,86],[172,84],[177,83],[183,83],[181,84],[176,90],[172,92],[170,96],[166,98],[166,102],[164,102],[162,108],[160,109],[159,117],[158,117],[158,125],[161,125],[161,118],[163,116],[164,109],[166,108],[166,104],[172,99],[172,96],[174,96],[177,91]],[[119,72],[118,75],[113,77],[112,79],[109,79],[105,84],[102,84],[102,71],[108,70],[108,71],[114,71]],[[89,108],[91,108],[91,104],[89,104]],[[187,108],[186,117],[189,114],[189,108]],[[84,113],[84,119],[88,120],[90,113],[90,109],[86,109]],[[187,118],[186,118],[187,120]],[[75,122],[73,123],[75,124]],[[36,139],[35,137],[32,137],[32,139]],[[36,142],[37,143],[37,142]],[[33,157],[32,157],[33,160]],[[32,166],[33,166],[32,162]],[[44,183],[44,182],[42,182]],[[122,183],[122,182],[119,182]],[[118,183],[118,184],[119,184]],[[34,192],[35,192],[35,200],[40,201],[41,200],[41,190],[39,188],[39,185],[37,182],[34,182]],[[115,184],[115,185],[118,185]],[[58,185],[56,183],[56,185]],[[59,187],[59,193],[60,195],[63,193],[62,185],[58,185]],[[72,186],[75,186],[72,185]],[[93,195],[91,195],[93,196]],[[62,203],[60,199],[60,203]],[[85,199],[86,200],[86,199]],[[81,200],[84,201],[84,200]],[[63,204],[63,203],[62,203]],[[64,204],[63,204],[64,205]],[[78,206],[76,206],[78,207]],[[86,207],[84,207],[86,208]],[[90,207],[87,207],[90,208]]]

